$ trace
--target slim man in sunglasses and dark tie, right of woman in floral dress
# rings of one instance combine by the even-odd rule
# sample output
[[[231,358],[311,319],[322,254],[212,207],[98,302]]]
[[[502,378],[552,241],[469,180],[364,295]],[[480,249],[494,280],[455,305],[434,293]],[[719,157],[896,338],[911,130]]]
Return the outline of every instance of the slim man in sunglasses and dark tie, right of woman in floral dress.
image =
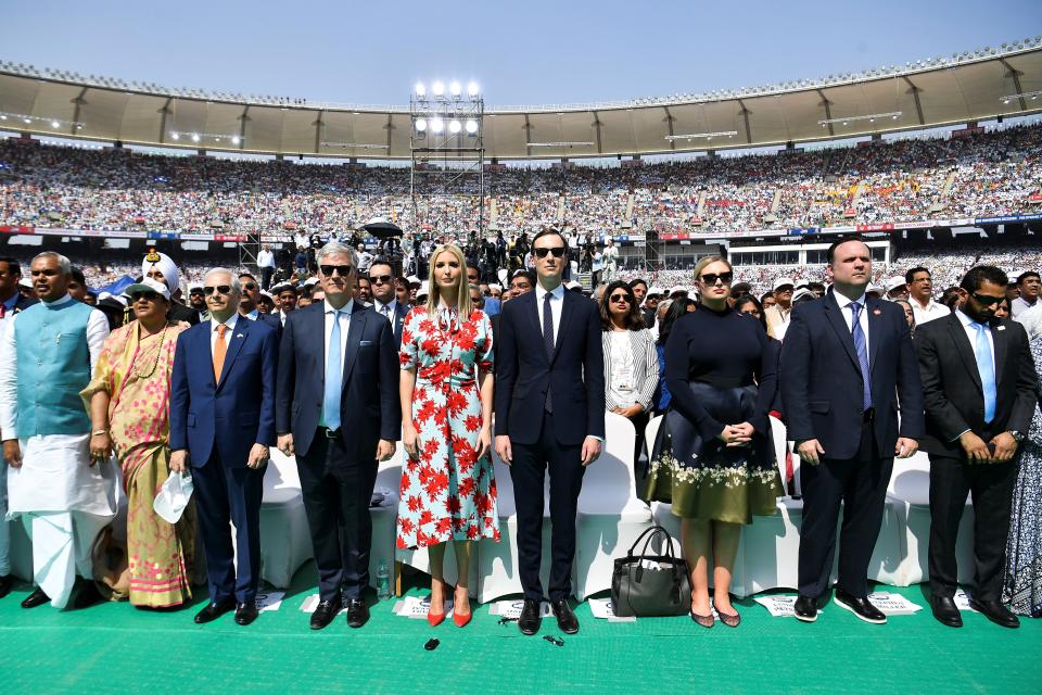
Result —
[[[538,285],[503,305],[496,369],[496,453],[510,466],[518,509],[524,604],[518,627],[539,629],[543,480],[550,469],[550,607],[561,631],[579,631],[568,605],[575,508],[583,472],[605,438],[605,362],[597,304],[566,292],[568,243],[545,229],[532,241]],[[543,345],[532,344],[534,336]]]

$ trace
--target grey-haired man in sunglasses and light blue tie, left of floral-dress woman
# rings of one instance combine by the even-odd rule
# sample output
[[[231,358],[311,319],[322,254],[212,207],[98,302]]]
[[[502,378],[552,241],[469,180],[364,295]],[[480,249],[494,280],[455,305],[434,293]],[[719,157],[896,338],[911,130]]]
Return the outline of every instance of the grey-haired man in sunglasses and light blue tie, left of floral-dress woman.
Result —
[[[296,455],[318,568],[310,627],[328,626],[346,599],[347,624],[360,628],[377,460],[391,457],[402,432],[398,354],[391,324],[352,300],[355,252],[331,242],[316,261],[326,299],[287,317],[276,429],[279,448]]]

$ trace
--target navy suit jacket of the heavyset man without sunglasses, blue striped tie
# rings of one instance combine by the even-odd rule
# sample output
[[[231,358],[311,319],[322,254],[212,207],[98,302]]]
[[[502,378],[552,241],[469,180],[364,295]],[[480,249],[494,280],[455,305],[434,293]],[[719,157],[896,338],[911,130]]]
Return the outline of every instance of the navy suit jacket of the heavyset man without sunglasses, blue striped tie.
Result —
[[[923,384],[902,308],[866,295],[868,365],[879,454],[892,456],[900,435],[922,440]],[[816,439],[827,458],[853,458],[863,422],[861,366],[836,296],[792,309],[782,342],[782,402],[790,440]]]

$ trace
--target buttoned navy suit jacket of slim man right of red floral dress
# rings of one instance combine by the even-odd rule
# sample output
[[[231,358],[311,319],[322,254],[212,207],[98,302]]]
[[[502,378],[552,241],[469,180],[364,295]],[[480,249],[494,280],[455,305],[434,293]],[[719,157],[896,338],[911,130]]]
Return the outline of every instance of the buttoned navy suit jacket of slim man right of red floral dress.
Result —
[[[564,292],[554,355],[543,348],[535,291],[503,305],[496,349],[496,434],[535,444],[550,389],[561,444],[605,437],[605,357],[597,303]]]

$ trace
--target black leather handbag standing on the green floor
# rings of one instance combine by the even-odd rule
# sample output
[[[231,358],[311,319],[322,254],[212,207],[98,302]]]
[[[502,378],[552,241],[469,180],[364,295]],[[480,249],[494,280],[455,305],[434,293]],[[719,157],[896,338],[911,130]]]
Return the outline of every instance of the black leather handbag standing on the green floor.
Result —
[[[655,536],[663,538],[665,555],[648,555]],[[634,555],[644,541],[639,555]],[[611,576],[611,608],[618,617],[683,616],[691,610],[691,580],[687,560],[676,557],[673,536],[660,526],[640,534],[626,553],[615,559]]]

